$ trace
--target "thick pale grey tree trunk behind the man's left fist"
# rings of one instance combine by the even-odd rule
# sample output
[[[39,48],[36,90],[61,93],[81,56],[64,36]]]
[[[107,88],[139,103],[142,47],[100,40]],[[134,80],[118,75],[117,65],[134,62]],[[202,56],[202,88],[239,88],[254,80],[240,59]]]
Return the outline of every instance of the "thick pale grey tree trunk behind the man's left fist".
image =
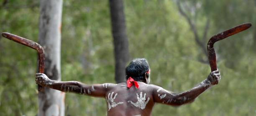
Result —
[[[61,13],[62,0],[41,0],[39,44],[45,50],[45,74],[51,80],[61,80]],[[38,116],[64,116],[65,93],[44,87],[38,93]]]

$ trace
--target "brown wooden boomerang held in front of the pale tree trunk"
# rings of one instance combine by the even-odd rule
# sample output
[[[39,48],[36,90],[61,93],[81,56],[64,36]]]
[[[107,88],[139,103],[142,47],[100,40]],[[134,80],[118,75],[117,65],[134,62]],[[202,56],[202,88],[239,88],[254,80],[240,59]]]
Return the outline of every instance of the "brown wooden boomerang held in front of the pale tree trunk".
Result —
[[[32,40],[28,40],[26,38],[22,38],[20,36],[11,34],[11,33],[6,33],[3,32],[2,36],[5,38],[8,38],[9,40],[13,40],[17,43],[26,45],[30,48],[35,49],[38,52],[38,58],[39,58],[39,73],[44,73],[44,60],[45,60],[45,56],[44,56],[44,48],[39,45],[38,43],[32,41]],[[38,85],[38,91],[42,91],[42,86]]]

